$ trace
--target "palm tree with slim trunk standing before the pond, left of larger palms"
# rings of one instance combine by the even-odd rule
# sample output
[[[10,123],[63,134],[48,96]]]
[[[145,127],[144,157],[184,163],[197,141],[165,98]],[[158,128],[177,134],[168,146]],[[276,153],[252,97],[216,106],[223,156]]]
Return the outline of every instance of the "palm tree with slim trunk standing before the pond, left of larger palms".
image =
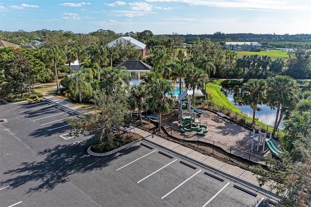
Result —
[[[250,80],[245,84],[245,90],[248,91],[242,100],[244,104],[250,105],[253,108],[253,122],[255,124],[255,113],[256,110],[260,110],[258,104],[262,104],[266,98],[267,85],[265,81],[261,80]]]

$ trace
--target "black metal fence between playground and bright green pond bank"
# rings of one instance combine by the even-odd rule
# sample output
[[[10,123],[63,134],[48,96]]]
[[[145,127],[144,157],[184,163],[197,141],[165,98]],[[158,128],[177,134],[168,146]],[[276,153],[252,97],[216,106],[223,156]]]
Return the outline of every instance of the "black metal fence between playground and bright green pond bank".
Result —
[[[211,110],[214,112],[221,112],[221,113],[227,115],[228,117],[230,117],[230,119],[232,119],[233,121],[236,121],[236,122],[238,122],[242,125],[245,125],[249,128],[255,129],[256,131],[258,131],[260,128],[261,132],[269,134],[270,131],[274,130],[273,126],[264,124],[264,123],[256,121],[256,120],[255,120],[255,124],[252,125],[252,122],[253,122],[252,118],[250,118],[246,115],[243,115],[241,113],[234,112],[230,109],[227,109],[227,108],[225,108],[221,105],[215,104],[213,102],[209,101],[206,104],[204,104],[204,106],[205,107],[202,109],[208,109],[208,110]],[[286,132],[284,130],[276,129],[276,133],[274,135],[274,138],[279,138],[280,136],[283,136],[285,134],[286,134]]]

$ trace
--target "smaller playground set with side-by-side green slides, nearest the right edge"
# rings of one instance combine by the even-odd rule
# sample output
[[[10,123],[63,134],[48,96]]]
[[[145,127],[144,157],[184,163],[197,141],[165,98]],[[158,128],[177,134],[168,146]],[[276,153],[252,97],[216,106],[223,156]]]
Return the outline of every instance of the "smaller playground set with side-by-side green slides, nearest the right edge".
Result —
[[[267,133],[263,133],[260,132],[260,128],[259,128],[259,132],[258,135],[255,136],[255,129],[253,130],[253,139],[252,139],[252,145],[251,145],[251,153],[254,152],[254,143],[255,141],[257,141],[257,152],[259,151],[259,145],[260,143],[262,143],[262,153],[264,153],[264,148],[265,146],[267,146],[267,148],[269,149],[269,151],[271,152],[272,155],[274,155],[275,157],[279,157],[280,154],[282,154],[283,152],[278,148],[278,146],[276,145],[276,142],[273,140],[272,138],[272,131],[270,132],[270,137],[269,139],[267,138]]]

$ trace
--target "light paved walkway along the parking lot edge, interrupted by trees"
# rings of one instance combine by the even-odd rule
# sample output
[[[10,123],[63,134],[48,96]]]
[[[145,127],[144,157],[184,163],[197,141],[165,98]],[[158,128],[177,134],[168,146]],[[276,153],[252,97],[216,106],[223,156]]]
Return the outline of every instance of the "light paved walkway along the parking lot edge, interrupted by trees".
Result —
[[[60,100],[57,97],[49,95],[49,96],[45,96],[44,99],[49,102],[53,102],[55,104],[59,104],[64,107],[67,107],[71,110],[78,111],[79,113],[86,113],[86,110],[81,109],[79,106]],[[260,188],[256,175],[253,174],[251,171],[247,171],[237,166],[233,166],[228,163],[219,161],[214,157],[203,155],[190,148],[187,148],[178,143],[166,140],[164,138],[160,138],[154,134],[143,131],[139,128],[135,128],[135,133],[138,133],[139,135],[141,135],[143,137],[143,140],[145,142],[148,142],[149,144],[158,146],[174,155],[182,157],[196,165],[207,168],[214,173],[221,174],[235,182],[241,183],[242,185],[245,185],[256,191],[260,191],[260,193],[265,194],[271,197],[272,199],[279,201],[279,199],[275,197],[274,193],[271,193],[268,188],[269,185],[271,185],[273,182],[272,181],[268,182]]]

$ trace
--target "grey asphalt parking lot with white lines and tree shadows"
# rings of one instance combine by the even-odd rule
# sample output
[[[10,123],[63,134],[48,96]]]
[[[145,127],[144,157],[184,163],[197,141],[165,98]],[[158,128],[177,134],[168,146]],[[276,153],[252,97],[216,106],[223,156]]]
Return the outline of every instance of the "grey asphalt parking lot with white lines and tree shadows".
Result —
[[[64,119],[78,114],[58,105],[20,102],[0,110],[0,207],[254,207],[265,198],[157,147],[88,155],[96,139],[68,136]]]

